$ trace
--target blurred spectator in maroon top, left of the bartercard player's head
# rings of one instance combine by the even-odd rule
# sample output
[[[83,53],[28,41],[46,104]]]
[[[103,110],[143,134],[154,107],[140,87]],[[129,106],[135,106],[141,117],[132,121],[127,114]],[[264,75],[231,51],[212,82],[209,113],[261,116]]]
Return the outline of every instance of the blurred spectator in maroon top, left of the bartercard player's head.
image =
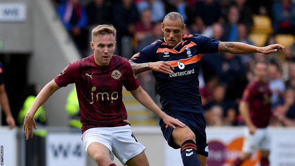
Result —
[[[140,42],[143,38],[153,34],[153,22],[151,20],[151,11],[145,9],[141,13],[140,21],[135,24],[134,38]]]

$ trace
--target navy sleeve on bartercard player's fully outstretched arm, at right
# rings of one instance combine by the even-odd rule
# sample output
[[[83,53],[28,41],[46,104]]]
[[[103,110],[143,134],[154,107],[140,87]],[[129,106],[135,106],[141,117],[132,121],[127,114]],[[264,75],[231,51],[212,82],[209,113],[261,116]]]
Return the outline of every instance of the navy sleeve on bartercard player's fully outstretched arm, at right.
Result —
[[[196,42],[201,53],[218,53],[219,40],[198,36]]]

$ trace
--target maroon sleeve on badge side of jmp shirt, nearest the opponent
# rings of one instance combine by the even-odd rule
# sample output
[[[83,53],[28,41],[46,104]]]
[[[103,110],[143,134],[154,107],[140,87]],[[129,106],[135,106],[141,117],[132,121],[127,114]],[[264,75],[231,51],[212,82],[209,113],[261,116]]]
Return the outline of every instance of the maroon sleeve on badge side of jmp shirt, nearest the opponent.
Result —
[[[135,90],[140,86],[140,82],[137,79],[136,75],[134,74],[134,71],[130,65],[130,63],[126,60],[125,62],[125,75],[124,75],[124,87],[127,91]]]

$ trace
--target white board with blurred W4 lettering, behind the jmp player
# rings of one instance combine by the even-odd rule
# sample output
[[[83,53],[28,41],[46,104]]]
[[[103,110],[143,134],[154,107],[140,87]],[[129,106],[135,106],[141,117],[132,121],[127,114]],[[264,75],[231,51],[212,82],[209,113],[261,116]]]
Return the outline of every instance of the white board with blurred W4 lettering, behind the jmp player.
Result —
[[[86,166],[81,134],[49,133],[46,137],[46,166]]]

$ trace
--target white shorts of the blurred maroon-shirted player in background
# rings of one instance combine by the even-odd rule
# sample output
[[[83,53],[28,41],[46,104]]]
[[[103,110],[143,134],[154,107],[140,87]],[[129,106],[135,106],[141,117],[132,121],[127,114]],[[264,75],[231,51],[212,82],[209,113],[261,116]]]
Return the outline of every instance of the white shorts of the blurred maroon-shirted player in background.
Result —
[[[253,153],[256,149],[269,151],[271,148],[271,129],[257,128],[254,134],[250,134],[249,128],[245,128],[243,152]]]

